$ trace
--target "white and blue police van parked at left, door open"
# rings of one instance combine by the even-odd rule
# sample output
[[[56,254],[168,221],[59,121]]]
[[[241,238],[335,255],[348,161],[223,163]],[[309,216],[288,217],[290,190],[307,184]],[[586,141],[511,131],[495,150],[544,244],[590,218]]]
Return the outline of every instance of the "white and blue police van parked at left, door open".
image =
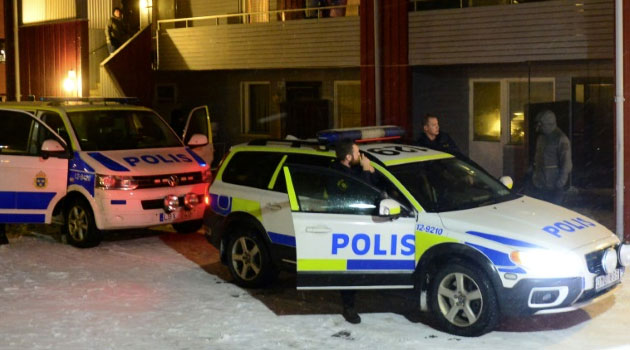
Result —
[[[127,101],[1,104],[0,222],[60,223],[76,247],[114,229],[199,230],[211,178],[207,108],[191,112],[185,146],[154,111]]]

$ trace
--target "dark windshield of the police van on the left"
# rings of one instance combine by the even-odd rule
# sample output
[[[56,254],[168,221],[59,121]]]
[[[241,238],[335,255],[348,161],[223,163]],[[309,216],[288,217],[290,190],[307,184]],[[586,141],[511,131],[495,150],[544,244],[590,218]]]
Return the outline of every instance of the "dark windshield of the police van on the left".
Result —
[[[68,113],[83,151],[182,146],[179,138],[155,113],[102,110]]]

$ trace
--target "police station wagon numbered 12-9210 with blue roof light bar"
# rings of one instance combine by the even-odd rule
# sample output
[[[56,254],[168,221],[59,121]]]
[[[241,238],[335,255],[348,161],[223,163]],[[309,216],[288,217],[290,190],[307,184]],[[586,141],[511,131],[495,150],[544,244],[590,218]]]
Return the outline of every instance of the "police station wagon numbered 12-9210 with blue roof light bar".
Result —
[[[326,142],[389,131],[320,133]],[[367,134],[367,135],[366,135]],[[611,293],[630,246],[574,211],[512,192],[451,154],[361,143],[376,185],[329,166],[320,143],[232,147],[210,188],[207,239],[235,282],[282,268],[298,289],[414,288],[445,331],[477,336],[501,315],[572,310]],[[343,183],[343,191],[330,184]]]

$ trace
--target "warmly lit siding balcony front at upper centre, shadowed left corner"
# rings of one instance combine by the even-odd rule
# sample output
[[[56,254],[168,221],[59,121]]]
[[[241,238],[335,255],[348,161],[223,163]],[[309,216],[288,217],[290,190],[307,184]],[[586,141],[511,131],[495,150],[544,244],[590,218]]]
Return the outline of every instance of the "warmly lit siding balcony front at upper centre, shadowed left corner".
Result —
[[[160,70],[358,67],[359,17],[162,30]]]

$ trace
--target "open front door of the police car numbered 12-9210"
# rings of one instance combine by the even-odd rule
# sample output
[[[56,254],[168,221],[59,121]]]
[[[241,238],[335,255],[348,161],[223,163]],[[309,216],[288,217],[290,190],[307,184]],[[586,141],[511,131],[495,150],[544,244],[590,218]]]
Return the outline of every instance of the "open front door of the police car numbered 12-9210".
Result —
[[[415,213],[379,216],[380,190],[339,171],[283,167],[298,289],[411,288]]]

